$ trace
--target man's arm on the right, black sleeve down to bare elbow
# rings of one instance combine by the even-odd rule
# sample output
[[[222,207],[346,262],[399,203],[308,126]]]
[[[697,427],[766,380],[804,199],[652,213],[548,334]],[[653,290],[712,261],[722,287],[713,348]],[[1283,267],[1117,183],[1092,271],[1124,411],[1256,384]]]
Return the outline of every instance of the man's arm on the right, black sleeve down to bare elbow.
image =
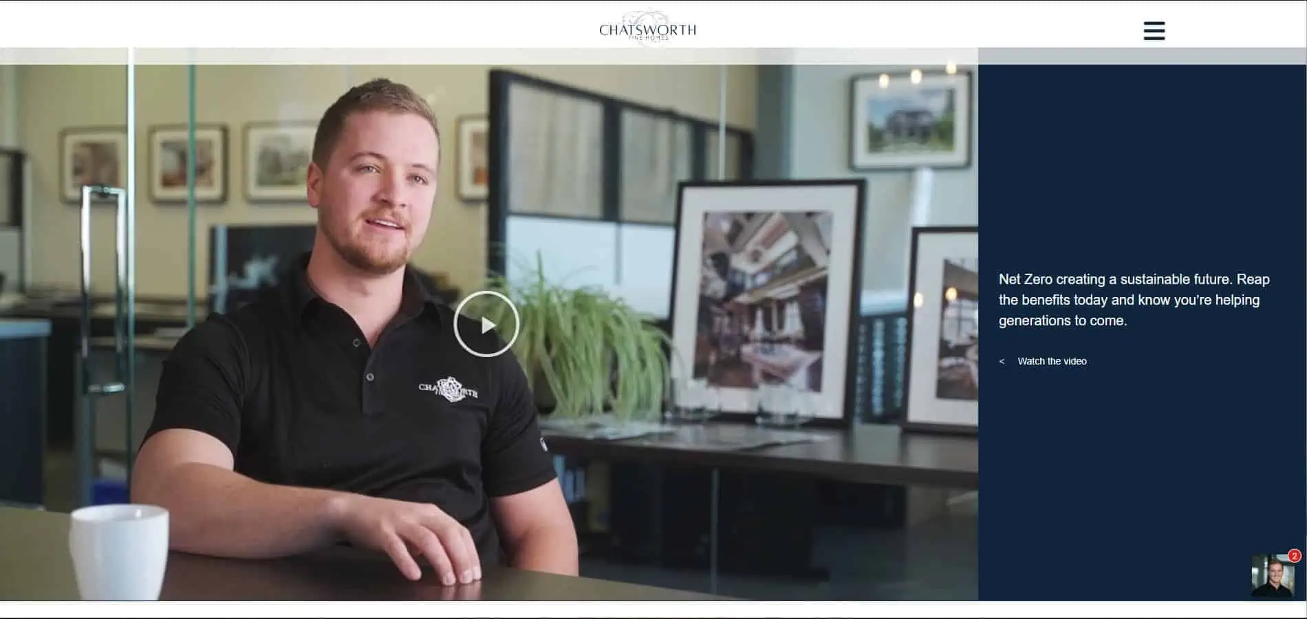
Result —
[[[576,576],[576,529],[540,434],[527,377],[512,353],[494,363],[498,393],[481,464],[499,541],[515,568]]]

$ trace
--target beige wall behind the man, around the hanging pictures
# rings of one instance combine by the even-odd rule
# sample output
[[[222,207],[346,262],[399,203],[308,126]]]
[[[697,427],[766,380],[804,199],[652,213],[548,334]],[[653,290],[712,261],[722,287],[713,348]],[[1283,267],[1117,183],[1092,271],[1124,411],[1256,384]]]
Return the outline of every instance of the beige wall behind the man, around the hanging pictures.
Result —
[[[512,71],[612,94],[625,99],[670,107],[682,114],[716,119],[718,67],[614,65],[516,67]],[[200,123],[227,124],[230,158],[227,201],[197,208],[196,273],[199,291],[208,282],[208,230],[213,223],[312,222],[306,205],[246,204],[243,125],[248,121],[316,120],[349,85],[371,77],[389,77],[427,95],[442,119],[442,135],[452,149],[457,116],[485,114],[485,65],[442,67],[290,67],[204,65],[197,69],[196,118]],[[17,138],[33,159],[33,283],[76,286],[78,278],[78,213],[59,200],[59,132],[68,127],[123,125],[127,121],[127,69],[123,67],[20,67],[17,82]],[[727,121],[754,127],[755,69],[731,67]],[[3,77],[3,76],[0,76]],[[4,82],[0,81],[0,89]],[[0,102],[4,99],[0,98]],[[186,67],[136,69],[136,281],[140,296],[182,296],[187,282],[186,206],[149,201],[148,136],[152,124],[187,120]],[[3,110],[3,106],[0,106]],[[0,138],[5,136],[0,118]],[[10,128],[12,131],[12,128]],[[93,217],[93,286],[112,289],[111,209]],[[485,206],[455,196],[454,166],[440,170],[435,214],[425,246],[414,262],[447,273],[463,287],[474,287],[485,270]]]

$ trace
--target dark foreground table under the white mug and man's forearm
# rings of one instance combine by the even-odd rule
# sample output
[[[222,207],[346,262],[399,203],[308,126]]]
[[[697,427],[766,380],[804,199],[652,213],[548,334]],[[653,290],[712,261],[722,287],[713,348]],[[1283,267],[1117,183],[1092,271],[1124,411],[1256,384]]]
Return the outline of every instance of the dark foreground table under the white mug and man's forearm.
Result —
[[[76,601],[65,513],[0,508],[0,601]],[[174,552],[167,601],[724,601],[702,593],[512,568],[472,585],[409,581],[382,555],[333,548],[293,559],[237,560]]]

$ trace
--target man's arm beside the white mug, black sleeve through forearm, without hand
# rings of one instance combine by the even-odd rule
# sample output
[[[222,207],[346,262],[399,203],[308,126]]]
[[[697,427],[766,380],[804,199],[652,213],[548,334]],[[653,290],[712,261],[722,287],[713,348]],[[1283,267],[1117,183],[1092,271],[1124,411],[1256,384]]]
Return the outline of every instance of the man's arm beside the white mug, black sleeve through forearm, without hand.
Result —
[[[269,558],[336,539],[342,495],[235,473],[248,351],[223,319],[197,325],[163,363],[132,500],[169,509],[174,548]]]

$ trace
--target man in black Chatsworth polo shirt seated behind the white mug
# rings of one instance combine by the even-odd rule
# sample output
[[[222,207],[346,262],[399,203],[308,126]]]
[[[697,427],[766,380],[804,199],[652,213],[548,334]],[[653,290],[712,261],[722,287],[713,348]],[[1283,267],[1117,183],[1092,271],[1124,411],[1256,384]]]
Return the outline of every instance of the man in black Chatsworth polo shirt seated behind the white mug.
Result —
[[[307,176],[311,255],[183,337],[163,364],[132,500],[171,545],[269,558],[348,542],[418,558],[447,585],[482,564],[576,573],[576,533],[525,376],[493,332],[406,268],[435,198],[439,133],[376,80],[323,115]]]

